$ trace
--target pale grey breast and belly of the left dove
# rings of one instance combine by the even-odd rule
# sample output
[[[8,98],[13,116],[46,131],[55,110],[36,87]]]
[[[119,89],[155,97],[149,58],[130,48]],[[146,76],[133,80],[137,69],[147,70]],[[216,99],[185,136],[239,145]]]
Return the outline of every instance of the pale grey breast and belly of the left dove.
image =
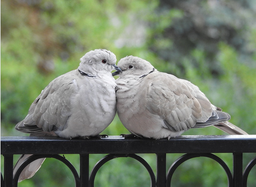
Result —
[[[101,79],[79,74],[74,82],[76,89],[70,97],[72,108],[67,128],[59,128],[55,133],[63,138],[93,137],[112,122],[117,111],[114,78],[105,74]]]

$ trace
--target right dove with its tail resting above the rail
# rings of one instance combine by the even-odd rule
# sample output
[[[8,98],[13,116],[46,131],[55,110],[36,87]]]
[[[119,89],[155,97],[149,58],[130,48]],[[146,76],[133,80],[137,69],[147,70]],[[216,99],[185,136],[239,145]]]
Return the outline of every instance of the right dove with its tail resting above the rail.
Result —
[[[193,83],[159,72],[135,56],[122,58],[117,65],[122,70],[112,73],[119,76],[117,113],[132,135],[170,139],[211,125],[229,134],[247,134],[228,122],[230,115],[212,105]]]

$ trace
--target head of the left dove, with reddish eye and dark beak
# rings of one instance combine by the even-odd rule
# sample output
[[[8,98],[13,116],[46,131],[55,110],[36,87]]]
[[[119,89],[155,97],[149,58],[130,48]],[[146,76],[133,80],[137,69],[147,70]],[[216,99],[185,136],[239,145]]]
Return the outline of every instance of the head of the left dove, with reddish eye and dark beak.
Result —
[[[80,58],[78,70],[84,73],[97,74],[98,72],[111,72],[112,70],[120,71],[115,65],[117,58],[106,49],[95,49],[86,53]]]

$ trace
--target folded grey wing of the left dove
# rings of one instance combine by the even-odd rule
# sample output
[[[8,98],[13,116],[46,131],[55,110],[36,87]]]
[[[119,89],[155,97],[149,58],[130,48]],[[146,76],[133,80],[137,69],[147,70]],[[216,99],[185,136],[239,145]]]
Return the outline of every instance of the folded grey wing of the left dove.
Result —
[[[26,133],[63,130],[71,115],[70,99],[77,94],[75,71],[54,79],[29,108],[26,118],[15,128]]]

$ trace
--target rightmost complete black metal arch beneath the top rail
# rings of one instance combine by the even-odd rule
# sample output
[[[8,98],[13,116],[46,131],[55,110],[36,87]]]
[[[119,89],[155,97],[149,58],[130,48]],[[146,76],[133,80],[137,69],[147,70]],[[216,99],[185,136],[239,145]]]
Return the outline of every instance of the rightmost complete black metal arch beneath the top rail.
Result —
[[[226,165],[226,163],[220,159],[219,157],[217,157],[216,155],[213,154],[185,154],[181,157],[179,157],[169,168],[168,174],[167,174],[167,186],[171,186],[171,177],[174,174],[175,170],[177,169],[177,167],[184,163],[186,160],[191,159],[191,158],[196,158],[196,157],[208,157],[211,158],[213,160],[215,160],[217,163],[219,163],[222,168],[224,168],[227,177],[228,177],[228,186],[233,186],[233,177],[232,177],[232,173],[230,172],[230,169],[228,168],[228,166]]]

